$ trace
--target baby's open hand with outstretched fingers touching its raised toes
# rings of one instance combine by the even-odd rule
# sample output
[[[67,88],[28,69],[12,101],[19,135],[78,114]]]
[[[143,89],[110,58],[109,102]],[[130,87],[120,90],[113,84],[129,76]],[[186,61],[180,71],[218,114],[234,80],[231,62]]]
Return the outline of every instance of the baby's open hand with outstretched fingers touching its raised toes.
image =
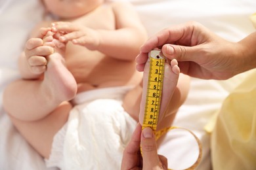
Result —
[[[82,25],[70,22],[54,22],[52,30],[64,33],[59,37],[61,42],[72,41],[73,44],[85,46],[89,50],[96,50],[100,43],[98,32]]]

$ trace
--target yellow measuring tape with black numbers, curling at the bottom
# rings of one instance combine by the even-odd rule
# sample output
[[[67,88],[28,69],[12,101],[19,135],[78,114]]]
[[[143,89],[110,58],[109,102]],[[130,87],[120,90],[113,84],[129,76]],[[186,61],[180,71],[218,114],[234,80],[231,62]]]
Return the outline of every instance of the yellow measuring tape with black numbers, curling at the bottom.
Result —
[[[192,131],[183,127],[167,127],[165,129],[161,129],[160,131],[156,131],[161,106],[161,93],[163,90],[165,57],[162,56],[160,50],[152,50],[148,55],[150,58],[150,69],[148,73],[146,105],[144,110],[144,120],[142,124],[142,129],[144,129],[145,127],[150,127],[154,131],[154,134],[156,135],[156,140],[158,140],[161,137],[161,135],[167,133],[167,131],[170,131],[171,129],[184,129],[190,132],[198,143],[199,154],[198,160],[187,169],[195,169],[202,158],[202,146],[200,140],[198,139],[198,137],[196,137],[196,135],[194,135],[194,133],[192,133]]]

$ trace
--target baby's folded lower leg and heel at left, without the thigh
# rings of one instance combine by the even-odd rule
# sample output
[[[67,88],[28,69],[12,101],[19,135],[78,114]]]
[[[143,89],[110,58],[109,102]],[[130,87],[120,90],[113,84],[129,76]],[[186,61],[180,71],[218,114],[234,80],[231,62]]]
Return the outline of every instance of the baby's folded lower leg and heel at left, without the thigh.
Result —
[[[3,104],[12,117],[35,121],[75,96],[77,84],[59,53],[47,56],[47,70],[38,80],[17,80],[5,90]]]

